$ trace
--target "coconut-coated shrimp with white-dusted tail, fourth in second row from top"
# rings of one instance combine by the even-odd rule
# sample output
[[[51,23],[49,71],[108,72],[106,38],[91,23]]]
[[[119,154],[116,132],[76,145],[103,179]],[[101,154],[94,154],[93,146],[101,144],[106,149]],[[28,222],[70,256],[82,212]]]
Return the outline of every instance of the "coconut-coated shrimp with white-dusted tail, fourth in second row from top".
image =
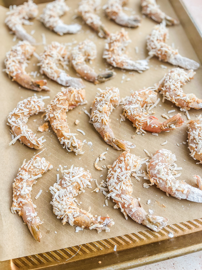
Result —
[[[102,57],[113,67],[129,70],[147,70],[149,67],[146,59],[133,61],[124,53],[130,42],[131,40],[128,37],[128,32],[126,32],[124,28],[121,29],[121,32],[110,34],[105,43]]]

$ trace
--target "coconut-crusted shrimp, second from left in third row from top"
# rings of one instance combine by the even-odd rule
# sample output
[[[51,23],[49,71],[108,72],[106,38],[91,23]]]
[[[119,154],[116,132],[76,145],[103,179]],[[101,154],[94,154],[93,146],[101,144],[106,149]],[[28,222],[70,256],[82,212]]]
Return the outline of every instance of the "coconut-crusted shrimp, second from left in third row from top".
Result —
[[[57,138],[61,144],[64,144],[63,148],[66,148],[68,152],[74,151],[76,155],[83,154],[83,143],[77,140],[76,133],[70,133],[69,126],[66,122],[66,112],[81,105],[85,99],[84,89],[75,89],[72,87],[63,88],[62,91],[57,93],[55,98],[45,109],[46,120],[48,120],[52,126],[53,131],[57,134]]]

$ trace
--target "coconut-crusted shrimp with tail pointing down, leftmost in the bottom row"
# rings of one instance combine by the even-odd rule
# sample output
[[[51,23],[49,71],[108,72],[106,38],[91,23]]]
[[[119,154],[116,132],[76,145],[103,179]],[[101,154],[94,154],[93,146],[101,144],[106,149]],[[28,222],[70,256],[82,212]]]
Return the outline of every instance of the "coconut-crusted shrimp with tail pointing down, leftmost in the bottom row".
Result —
[[[14,214],[16,211],[23,221],[27,224],[32,236],[38,242],[42,237],[39,225],[43,223],[34,208],[31,199],[31,190],[33,184],[36,184],[37,179],[42,177],[43,173],[51,170],[53,166],[41,158],[39,155],[34,156],[30,161],[24,160],[22,166],[19,168],[18,174],[13,183],[13,204],[11,212]]]

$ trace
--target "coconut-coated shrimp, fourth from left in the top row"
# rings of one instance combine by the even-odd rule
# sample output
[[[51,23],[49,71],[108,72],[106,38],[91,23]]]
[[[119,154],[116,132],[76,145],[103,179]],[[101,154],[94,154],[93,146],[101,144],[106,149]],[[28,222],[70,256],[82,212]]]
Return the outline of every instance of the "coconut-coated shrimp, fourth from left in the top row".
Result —
[[[128,16],[123,12],[122,6],[127,4],[128,0],[108,0],[104,5],[107,16],[114,20],[117,24],[127,27],[137,27],[140,25],[141,19],[138,15]]]

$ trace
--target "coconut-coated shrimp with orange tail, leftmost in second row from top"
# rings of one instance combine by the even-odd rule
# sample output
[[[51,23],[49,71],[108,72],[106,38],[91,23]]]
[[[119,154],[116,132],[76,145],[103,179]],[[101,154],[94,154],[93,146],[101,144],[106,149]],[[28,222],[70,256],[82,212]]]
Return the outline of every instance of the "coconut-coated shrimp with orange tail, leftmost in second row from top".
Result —
[[[6,53],[6,59],[4,60],[5,72],[13,77],[13,81],[18,82],[25,88],[35,91],[49,91],[50,89],[46,86],[46,80],[34,81],[25,71],[25,68],[28,66],[27,59],[33,55],[34,51],[35,47],[31,46],[28,41],[19,41]]]

